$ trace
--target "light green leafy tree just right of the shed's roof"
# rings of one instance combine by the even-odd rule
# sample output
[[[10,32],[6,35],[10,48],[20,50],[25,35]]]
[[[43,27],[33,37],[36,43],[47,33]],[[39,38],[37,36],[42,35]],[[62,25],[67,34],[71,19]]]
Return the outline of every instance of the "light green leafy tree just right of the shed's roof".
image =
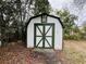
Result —
[[[64,25],[64,38],[70,37],[75,28],[74,21],[77,20],[77,16],[71,14],[67,10],[57,11],[57,15],[61,17]]]

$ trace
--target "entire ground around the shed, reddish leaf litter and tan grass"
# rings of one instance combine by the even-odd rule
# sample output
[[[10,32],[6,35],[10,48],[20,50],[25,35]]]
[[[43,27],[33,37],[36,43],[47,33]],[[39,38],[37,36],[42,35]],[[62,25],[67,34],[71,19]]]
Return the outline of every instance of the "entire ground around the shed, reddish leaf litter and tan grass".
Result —
[[[27,49],[22,43],[0,48],[0,64],[86,64],[86,41],[64,40],[63,51]]]

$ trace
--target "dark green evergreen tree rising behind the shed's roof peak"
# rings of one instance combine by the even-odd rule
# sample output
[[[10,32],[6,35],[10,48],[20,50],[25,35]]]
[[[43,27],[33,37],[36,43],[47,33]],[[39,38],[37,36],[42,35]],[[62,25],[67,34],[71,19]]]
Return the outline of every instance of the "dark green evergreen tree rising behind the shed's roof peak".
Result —
[[[51,7],[48,0],[34,0],[34,15],[38,15],[40,13],[50,13]]]

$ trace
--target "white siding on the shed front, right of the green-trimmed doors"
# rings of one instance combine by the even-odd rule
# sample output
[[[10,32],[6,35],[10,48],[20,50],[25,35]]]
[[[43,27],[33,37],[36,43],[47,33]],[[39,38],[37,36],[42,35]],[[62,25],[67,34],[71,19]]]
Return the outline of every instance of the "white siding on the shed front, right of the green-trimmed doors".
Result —
[[[48,17],[48,23],[54,23],[54,49],[62,50],[62,26],[57,18]]]

